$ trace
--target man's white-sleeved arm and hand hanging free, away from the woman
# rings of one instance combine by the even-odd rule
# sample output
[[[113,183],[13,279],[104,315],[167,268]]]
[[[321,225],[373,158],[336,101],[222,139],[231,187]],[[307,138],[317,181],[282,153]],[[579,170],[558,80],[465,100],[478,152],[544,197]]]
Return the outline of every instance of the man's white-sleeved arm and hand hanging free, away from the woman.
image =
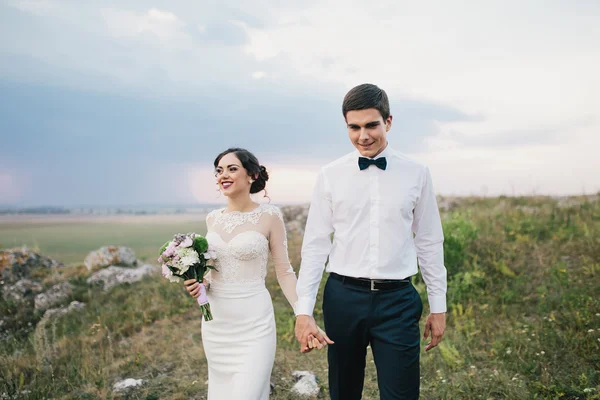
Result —
[[[427,339],[430,332],[432,338],[425,349],[431,350],[442,340],[446,328],[447,277],[444,266],[444,234],[429,168],[425,168],[423,174],[421,195],[413,218],[417,258],[427,286],[431,312],[425,324],[424,338]]]

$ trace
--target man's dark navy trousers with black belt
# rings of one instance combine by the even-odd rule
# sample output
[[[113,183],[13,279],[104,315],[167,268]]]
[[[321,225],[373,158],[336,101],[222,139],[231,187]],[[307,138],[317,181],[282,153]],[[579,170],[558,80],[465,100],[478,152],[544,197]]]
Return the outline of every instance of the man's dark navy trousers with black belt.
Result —
[[[380,399],[419,398],[419,320],[423,303],[414,286],[371,291],[329,277],[323,294],[332,400],[362,397],[371,345]]]

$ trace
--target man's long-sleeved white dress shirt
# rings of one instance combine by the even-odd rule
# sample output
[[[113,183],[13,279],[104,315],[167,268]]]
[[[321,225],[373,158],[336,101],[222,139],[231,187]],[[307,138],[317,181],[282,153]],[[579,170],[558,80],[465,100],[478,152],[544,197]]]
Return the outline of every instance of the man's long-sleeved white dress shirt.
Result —
[[[326,165],[313,193],[296,291],[312,315],[323,268],[339,275],[404,279],[421,268],[432,313],[446,312],[444,235],[429,169],[388,145],[387,169],[361,171],[358,151]],[[333,243],[331,240],[333,235]]]

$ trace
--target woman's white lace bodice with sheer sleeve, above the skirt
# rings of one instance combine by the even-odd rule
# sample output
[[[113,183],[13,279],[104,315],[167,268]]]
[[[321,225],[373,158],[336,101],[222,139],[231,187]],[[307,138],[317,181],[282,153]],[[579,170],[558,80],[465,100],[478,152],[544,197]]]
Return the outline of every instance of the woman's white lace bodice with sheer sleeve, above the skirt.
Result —
[[[290,264],[283,215],[276,206],[261,204],[249,212],[218,209],[206,217],[206,239],[217,253],[208,277],[219,283],[264,282],[269,250],[277,280],[292,306],[297,301],[296,274]]]

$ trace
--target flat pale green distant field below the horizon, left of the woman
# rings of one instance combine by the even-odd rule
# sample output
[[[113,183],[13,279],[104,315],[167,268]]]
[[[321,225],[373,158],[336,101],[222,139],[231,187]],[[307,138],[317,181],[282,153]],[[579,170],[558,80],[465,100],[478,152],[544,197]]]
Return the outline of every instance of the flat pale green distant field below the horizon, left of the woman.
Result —
[[[2,216],[0,246],[37,248],[65,264],[83,262],[106,245],[131,247],[141,260],[152,260],[156,249],[174,233],[206,233],[204,215],[152,216]]]

